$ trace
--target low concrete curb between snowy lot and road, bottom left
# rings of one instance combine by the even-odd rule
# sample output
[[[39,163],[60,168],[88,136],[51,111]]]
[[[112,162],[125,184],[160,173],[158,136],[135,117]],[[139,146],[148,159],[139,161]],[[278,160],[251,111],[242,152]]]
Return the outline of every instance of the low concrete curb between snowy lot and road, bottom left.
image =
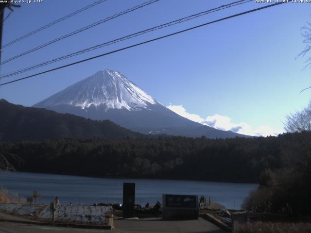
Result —
[[[73,223],[35,222],[35,221],[13,220],[13,219],[0,219],[0,222],[14,222],[14,223],[32,224],[32,225],[41,225],[41,226],[90,228],[90,229],[105,229],[105,230],[111,230],[112,224],[113,224],[112,218],[109,219],[109,225],[82,225],[82,224],[73,224]]]

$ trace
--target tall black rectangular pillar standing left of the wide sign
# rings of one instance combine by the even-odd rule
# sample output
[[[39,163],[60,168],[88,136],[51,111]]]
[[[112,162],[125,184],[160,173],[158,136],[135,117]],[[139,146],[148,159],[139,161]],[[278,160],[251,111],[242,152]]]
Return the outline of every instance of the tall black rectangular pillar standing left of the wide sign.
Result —
[[[135,216],[135,183],[123,183],[123,217]]]

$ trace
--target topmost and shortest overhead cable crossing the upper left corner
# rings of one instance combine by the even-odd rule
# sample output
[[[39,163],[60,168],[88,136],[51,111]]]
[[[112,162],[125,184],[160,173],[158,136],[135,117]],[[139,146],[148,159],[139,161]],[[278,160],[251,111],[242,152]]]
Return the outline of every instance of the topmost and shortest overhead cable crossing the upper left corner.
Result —
[[[83,12],[83,11],[85,11],[85,10],[87,10],[87,9],[89,9],[89,8],[91,8],[91,7],[93,7],[93,6],[96,6],[96,5],[98,5],[98,4],[100,4],[100,3],[104,2],[104,1],[106,1],[106,0],[98,0],[98,1],[95,1],[94,3],[92,3],[92,4],[90,4],[90,5],[87,5],[87,6],[83,7],[83,8],[81,8],[81,9],[79,9],[79,10],[73,12],[73,13],[70,13],[70,14],[67,15],[67,16],[64,16],[64,17],[61,17],[61,18],[59,18],[59,19],[56,19],[55,21],[53,21],[53,22],[51,22],[51,23],[48,23],[48,24],[44,25],[43,27],[36,29],[35,31],[32,31],[32,32],[30,32],[30,33],[27,33],[27,34],[25,34],[25,35],[23,35],[23,36],[21,36],[21,37],[15,39],[15,40],[13,40],[13,41],[11,41],[11,42],[9,42],[9,43],[3,45],[1,49],[5,48],[5,47],[7,47],[7,46],[10,46],[10,45],[16,43],[17,41],[20,41],[20,40],[22,40],[22,39],[25,39],[25,38],[27,38],[28,36],[31,36],[31,35],[33,35],[33,34],[35,34],[35,33],[38,33],[38,32],[40,32],[40,31],[42,31],[42,30],[44,30],[44,29],[46,29],[46,28],[49,28],[49,27],[51,27],[52,25],[54,25],[54,24],[56,24],[56,23],[59,23],[59,22],[65,20],[65,19],[67,19],[67,18],[70,18],[70,17],[72,17],[72,16],[74,16],[74,15],[77,15],[77,14],[79,14],[79,13],[81,13],[81,12]]]

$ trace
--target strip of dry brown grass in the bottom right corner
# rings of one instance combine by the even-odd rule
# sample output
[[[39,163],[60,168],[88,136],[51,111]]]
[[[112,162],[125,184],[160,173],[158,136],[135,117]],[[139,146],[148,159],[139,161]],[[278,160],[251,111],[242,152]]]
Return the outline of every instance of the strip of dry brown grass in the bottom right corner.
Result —
[[[256,222],[241,225],[238,233],[311,233],[311,223]]]

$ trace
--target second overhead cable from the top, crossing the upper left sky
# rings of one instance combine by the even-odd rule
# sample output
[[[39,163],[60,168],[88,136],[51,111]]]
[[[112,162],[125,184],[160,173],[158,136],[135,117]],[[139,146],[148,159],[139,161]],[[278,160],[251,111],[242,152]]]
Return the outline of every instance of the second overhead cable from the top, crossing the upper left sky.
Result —
[[[3,65],[3,64],[5,64],[5,63],[7,63],[7,62],[10,62],[10,61],[12,61],[12,60],[18,58],[18,57],[21,57],[21,56],[24,56],[24,55],[26,55],[26,54],[28,54],[28,53],[34,52],[35,50],[42,49],[42,48],[44,48],[44,47],[46,47],[46,46],[48,46],[48,45],[51,45],[51,44],[53,44],[53,43],[55,43],[55,42],[57,42],[57,41],[63,40],[63,39],[65,39],[65,38],[67,38],[67,37],[69,37],[69,36],[72,36],[72,35],[75,35],[75,34],[77,34],[77,33],[81,33],[81,32],[83,32],[83,31],[85,31],[85,30],[87,30],[87,29],[90,29],[90,28],[92,28],[92,27],[95,27],[95,26],[97,26],[97,25],[99,25],[99,24],[102,24],[102,23],[104,23],[104,22],[107,22],[107,21],[109,21],[109,20],[111,20],[111,19],[114,19],[114,18],[116,18],[116,17],[120,17],[120,16],[122,16],[122,15],[125,15],[125,14],[127,14],[127,13],[130,13],[130,12],[132,12],[132,11],[135,11],[135,10],[137,10],[137,9],[139,9],[139,8],[142,8],[142,7],[144,7],[144,6],[147,6],[147,5],[152,4],[152,3],[154,3],[154,2],[157,2],[157,1],[159,1],[159,0],[149,0],[149,1],[146,1],[146,2],[144,2],[144,3],[142,3],[142,4],[140,4],[140,5],[134,6],[134,7],[130,8],[130,9],[127,9],[127,10],[125,10],[125,11],[122,11],[122,12],[118,13],[118,14],[115,14],[115,15],[113,15],[113,16],[106,17],[106,18],[104,18],[104,19],[102,19],[102,20],[100,20],[100,21],[97,21],[97,22],[95,22],[95,23],[92,23],[92,24],[87,25],[86,27],[80,28],[80,29],[78,29],[78,30],[76,30],[76,31],[74,31],[74,32],[68,33],[68,34],[63,35],[63,36],[61,36],[61,37],[58,37],[58,38],[56,38],[56,39],[54,39],[54,40],[51,40],[51,41],[49,41],[49,42],[47,42],[47,43],[45,43],[45,44],[43,44],[43,45],[37,46],[37,47],[35,47],[35,48],[31,49],[31,50],[25,51],[25,52],[23,52],[23,53],[20,53],[20,54],[14,56],[14,57],[11,57],[11,58],[9,58],[9,59],[7,59],[7,60],[1,62],[0,65]]]

